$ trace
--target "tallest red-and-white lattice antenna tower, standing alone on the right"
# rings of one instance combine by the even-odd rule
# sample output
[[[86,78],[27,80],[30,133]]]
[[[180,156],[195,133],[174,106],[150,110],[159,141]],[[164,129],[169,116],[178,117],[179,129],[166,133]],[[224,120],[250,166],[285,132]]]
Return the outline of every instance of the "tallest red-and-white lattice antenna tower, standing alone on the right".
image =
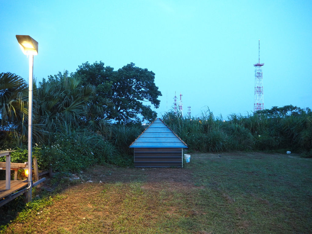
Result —
[[[263,80],[262,80],[262,66],[264,63],[260,63],[260,40],[259,40],[259,62],[254,64],[255,70],[255,101],[254,112],[257,110],[264,110],[263,102]]]

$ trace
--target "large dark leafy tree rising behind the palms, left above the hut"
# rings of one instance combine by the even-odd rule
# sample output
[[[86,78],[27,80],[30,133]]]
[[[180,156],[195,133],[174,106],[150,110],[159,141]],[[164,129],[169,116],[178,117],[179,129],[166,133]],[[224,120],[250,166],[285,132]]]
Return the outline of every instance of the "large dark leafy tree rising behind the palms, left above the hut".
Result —
[[[95,85],[98,97],[112,100],[113,105],[107,107],[106,117],[109,119],[129,123],[144,119],[151,121],[157,116],[148,104],[158,108],[158,96],[162,94],[154,83],[154,72],[146,68],[130,63],[114,71],[101,61],[92,65],[86,62],[71,75],[79,77],[83,85]]]

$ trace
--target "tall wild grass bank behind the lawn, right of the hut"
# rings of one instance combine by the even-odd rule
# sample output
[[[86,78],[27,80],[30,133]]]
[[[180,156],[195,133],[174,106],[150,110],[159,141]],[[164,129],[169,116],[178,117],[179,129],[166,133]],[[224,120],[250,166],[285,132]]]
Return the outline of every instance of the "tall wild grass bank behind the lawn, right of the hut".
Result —
[[[312,113],[292,115],[232,114],[215,118],[207,109],[199,117],[182,118],[173,111],[163,121],[192,151],[290,150],[312,157]]]

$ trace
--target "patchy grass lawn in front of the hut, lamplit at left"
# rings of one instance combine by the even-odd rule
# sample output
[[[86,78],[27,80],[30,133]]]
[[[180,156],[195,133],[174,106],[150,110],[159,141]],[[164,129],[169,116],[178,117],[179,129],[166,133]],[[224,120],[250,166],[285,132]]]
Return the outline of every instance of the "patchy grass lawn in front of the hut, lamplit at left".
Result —
[[[191,154],[182,169],[95,166],[0,233],[312,233],[311,169],[293,154],[245,152]]]

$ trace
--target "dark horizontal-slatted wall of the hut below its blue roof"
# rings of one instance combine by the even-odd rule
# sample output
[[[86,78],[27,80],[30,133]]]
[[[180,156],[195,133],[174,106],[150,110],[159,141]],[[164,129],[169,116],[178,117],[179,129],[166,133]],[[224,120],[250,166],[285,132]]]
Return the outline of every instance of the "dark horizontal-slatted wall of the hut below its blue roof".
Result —
[[[182,148],[134,148],[135,167],[182,167]]]

